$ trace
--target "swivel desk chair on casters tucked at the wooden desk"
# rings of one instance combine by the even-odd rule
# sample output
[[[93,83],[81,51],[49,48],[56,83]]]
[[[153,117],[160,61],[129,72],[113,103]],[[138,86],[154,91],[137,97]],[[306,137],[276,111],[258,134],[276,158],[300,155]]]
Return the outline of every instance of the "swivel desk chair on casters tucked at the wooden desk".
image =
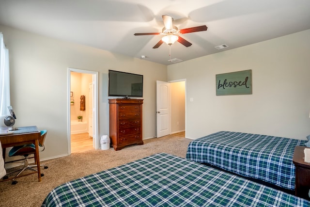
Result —
[[[43,149],[40,150],[41,152],[45,149],[44,141],[45,141],[46,135],[47,135],[47,130],[42,130],[41,131],[41,138],[39,139],[39,146],[43,147]],[[33,167],[37,167],[37,165],[29,165],[28,164],[28,161],[30,159],[29,156],[32,154],[35,154],[35,145],[34,144],[24,144],[21,146],[12,147],[12,149],[9,151],[9,157],[24,156],[25,157],[23,159],[24,160],[24,167],[21,169],[18,169],[16,171],[10,172],[8,174],[12,174],[12,173],[19,171],[19,173],[16,175],[16,177],[17,177],[18,175],[20,175],[22,172],[24,172],[27,169],[32,170],[32,171],[37,171],[37,170],[33,169]],[[37,162],[35,160],[35,157],[34,157],[34,162],[35,163]],[[40,165],[40,166],[44,166],[44,169],[48,168],[45,165]],[[44,176],[44,174],[42,173],[41,176]],[[17,183],[17,181],[15,179],[13,179],[12,185],[15,185],[16,183]]]

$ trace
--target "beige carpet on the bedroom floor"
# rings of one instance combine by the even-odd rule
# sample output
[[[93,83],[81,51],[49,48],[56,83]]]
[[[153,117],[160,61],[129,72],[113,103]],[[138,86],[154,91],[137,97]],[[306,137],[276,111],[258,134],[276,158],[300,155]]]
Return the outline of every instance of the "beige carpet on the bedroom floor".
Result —
[[[40,207],[47,194],[64,182],[159,152],[185,158],[190,141],[181,132],[144,140],[143,145],[126,146],[119,151],[113,148],[90,150],[42,161],[41,164],[48,166],[48,169],[41,168],[41,173],[44,173],[42,182],[38,182],[37,174],[33,174],[16,179],[16,185],[11,185],[11,181],[0,183],[0,207]]]

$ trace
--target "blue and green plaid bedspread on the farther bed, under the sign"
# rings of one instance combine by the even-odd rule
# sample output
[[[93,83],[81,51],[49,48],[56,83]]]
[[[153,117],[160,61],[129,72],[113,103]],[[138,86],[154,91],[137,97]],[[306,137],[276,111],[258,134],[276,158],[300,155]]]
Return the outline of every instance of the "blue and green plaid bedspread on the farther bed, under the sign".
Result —
[[[294,148],[307,141],[219,131],[189,143],[186,159],[295,189]]]

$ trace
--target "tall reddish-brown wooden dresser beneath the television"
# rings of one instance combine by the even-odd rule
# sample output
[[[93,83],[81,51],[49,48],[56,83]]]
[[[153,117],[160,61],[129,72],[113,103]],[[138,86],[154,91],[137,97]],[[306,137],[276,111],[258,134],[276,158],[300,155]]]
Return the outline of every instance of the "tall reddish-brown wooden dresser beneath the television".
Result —
[[[109,99],[109,133],[115,150],[143,144],[142,104],[143,99]]]

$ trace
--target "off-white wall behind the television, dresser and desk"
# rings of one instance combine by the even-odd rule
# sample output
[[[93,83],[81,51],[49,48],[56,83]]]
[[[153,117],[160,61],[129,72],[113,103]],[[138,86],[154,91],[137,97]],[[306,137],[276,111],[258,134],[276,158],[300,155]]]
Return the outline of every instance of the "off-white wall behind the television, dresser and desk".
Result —
[[[6,26],[0,26],[0,32],[9,49],[16,127],[36,125],[48,130],[40,159],[68,154],[68,67],[99,72],[99,137],[109,134],[108,70],[143,75],[143,139],[156,136],[156,80],[167,81],[166,65]]]

